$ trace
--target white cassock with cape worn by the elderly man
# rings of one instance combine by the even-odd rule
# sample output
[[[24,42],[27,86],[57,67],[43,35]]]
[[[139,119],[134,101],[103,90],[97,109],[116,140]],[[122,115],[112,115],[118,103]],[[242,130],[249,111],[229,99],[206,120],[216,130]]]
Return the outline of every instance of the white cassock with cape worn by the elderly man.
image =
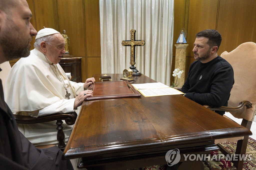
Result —
[[[14,114],[32,117],[45,116],[54,113],[69,113],[74,111],[75,97],[83,91],[84,83],[69,81],[59,64],[52,64],[39,50],[30,51],[30,55],[20,58],[12,67],[5,86],[5,101]],[[57,68],[60,71],[57,70]],[[65,82],[70,99],[61,82]],[[80,108],[79,108],[80,109]],[[79,109],[76,110],[77,113]],[[56,121],[40,124],[18,124],[19,130],[34,145],[57,143]],[[63,122],[65,142],[68,141],[73,126]]]

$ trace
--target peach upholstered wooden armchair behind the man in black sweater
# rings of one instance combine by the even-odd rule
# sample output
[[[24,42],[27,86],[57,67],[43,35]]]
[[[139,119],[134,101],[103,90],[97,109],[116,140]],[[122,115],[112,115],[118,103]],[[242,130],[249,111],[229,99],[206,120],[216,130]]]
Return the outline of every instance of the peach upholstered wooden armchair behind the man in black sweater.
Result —
[[[234,70],[235,83],[231,90],[228,106],[215,108],[205,105],[205,107],[213,111],[230,112],[234,117],[242,119],[242,126],[250,129],[256,113],[256,44],[253,42],[242,43],[229,53],[227,51],[223,52],[221,57],[226,59]],[[220,142],[238,140],[235,154],[246,154],[248,138],[248,136],[229,138],[222,141],[216,140],[215,143],[219,143],[217,145],[220,151],[226,155],[230,153]],[[234,164],[232,169],[240,170],[243,168],[244,161],[232,162]]]

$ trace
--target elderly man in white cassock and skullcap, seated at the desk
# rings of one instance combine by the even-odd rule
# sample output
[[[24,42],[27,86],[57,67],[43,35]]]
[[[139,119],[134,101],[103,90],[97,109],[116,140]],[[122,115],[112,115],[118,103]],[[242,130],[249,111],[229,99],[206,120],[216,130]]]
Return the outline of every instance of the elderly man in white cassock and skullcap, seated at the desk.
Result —
[[[51,28],[38,31],[35,49],[12,67],[7,77],[5,100],[14,114],[32,117],[54,113],[69,113],[79,109],[82,102],[92,96],[87,88],[95,82],[85,83],[68,79],[58,64],[65,53],[65,40]],[[73,126],[63,123],[65,138],[69,138]],[[55,122],[18,124],[19,130],[35,146],[57,143]]]

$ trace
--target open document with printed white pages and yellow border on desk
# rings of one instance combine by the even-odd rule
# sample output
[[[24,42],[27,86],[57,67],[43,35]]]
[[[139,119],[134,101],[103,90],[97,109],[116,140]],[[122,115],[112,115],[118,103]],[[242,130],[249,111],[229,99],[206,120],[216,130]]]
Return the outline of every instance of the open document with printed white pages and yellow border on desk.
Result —
[[[145,97],[184,94],[181,91],[171,88],[160,82],[132,85]]]

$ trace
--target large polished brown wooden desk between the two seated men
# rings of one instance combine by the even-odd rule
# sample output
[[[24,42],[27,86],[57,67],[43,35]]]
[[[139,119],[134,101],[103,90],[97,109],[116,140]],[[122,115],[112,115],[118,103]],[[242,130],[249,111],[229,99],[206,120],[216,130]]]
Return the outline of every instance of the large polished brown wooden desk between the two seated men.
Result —
[[[113,81],[122,77],[108,75]],[[99,76],[93,77],[99,81]],[[155,82],[144,75],[133,78],[132,83]],[[215,139],[251,134],[183,95],[85,101],[63,158],[82,158],[79,166],[88,170],[138,168],[167,164],[171,149],[209,154],[218,150]]]

